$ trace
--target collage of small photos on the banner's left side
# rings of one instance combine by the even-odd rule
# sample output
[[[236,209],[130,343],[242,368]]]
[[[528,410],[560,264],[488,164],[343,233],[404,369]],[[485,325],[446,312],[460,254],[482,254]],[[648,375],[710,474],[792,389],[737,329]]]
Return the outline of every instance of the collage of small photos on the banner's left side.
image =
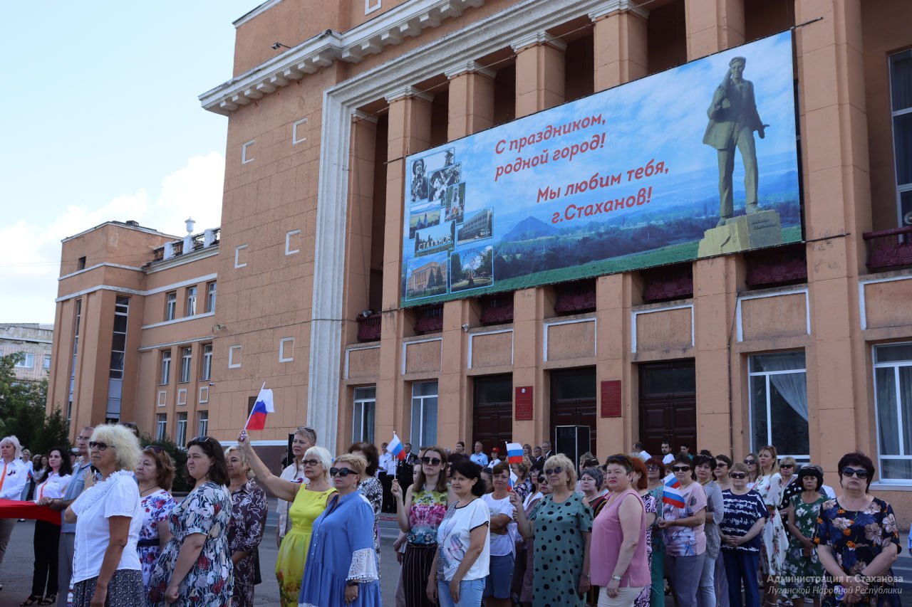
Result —
[[[462,166],[453,148],[409,159],[408,252],[405,299],[409,302],[491,287],[493,213],[466,200]]]

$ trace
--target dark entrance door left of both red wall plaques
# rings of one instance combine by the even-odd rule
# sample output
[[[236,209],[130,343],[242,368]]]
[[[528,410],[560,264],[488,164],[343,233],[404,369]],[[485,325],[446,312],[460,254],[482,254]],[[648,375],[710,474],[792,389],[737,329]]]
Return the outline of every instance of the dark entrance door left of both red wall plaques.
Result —
[[[472,453],[475,441],[481,440],[485,453],[496,447],[503,454],[504,443],[513,438],[513,376],[479,376],[474,385],[472,442],[466,442],[466,453]]]

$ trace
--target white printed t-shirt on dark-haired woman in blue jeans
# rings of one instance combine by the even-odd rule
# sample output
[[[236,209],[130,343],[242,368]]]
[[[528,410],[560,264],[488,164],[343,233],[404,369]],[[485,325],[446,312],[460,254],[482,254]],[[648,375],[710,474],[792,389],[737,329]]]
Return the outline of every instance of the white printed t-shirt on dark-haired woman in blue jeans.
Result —
[[[461,508],[452,508],[437,528],[437,545],[440,546],[440,562],[443,579],[451,581],[456,570],[465,557],[466,550],[472,543],[472,530],[482,525],[490,525],[491,512],[483,499],[472,499]],[[488,575],[491,563],[491,530],[484,537],[484,548],[478,555],[469,571],[465,572],[463,581],[481,580]]]

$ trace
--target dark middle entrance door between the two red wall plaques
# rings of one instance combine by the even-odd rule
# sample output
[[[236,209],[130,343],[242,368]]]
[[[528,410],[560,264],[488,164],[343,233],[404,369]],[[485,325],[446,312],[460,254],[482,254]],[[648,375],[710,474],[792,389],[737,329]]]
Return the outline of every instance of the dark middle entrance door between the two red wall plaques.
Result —
[[[588,450],[596,453],[596,367],[551,372],[550,436],[555,446],[554,428],[558,426],[589,427]]]

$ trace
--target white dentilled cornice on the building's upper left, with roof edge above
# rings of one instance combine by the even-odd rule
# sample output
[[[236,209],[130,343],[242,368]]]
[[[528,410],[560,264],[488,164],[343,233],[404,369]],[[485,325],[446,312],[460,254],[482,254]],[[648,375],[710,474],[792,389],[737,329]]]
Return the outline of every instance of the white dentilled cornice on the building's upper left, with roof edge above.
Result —
[[[368,55],[376,55],[384,46],[399,45],[404,38],[418,36],[428,27],[457,17],[472,6],[481,6],[484,0],[412,0],[389,9],[374,19],[353,27],[342,34],[327,29],[291,50],[282,53],[244,74],[203,93],[199,98],[202,107],[217,114],[227,115],[264,95],[285,87],[291,80],[300,80],[321,67],[342,60],[358,63]],[[248,15],[234,22],[239,26],[272,4],[260,5]],[[262,9],[262,10],[261,10]]]

